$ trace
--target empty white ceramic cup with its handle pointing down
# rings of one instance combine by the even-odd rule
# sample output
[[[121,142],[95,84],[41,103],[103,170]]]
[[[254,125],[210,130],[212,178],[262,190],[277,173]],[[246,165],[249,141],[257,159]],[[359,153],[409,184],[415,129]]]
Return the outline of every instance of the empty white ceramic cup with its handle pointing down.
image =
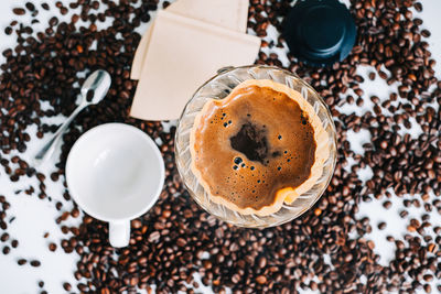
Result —
[[[88,215],[109,222],[112,247],[130,241],[130,220],[146,214],[164,184],[158,146],[141,130],[106,123],[84,133],[66,163],[69,193]]]

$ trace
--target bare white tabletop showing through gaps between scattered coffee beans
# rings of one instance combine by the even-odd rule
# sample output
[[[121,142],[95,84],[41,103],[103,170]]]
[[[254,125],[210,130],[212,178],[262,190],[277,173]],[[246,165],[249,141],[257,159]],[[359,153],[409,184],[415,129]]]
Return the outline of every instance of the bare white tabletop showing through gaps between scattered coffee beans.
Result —
[[[12,13],[12,8],[24,7],[24,0],[1,0],[0,1],[0,51],[7,47],[12,47],[15,44],[14,36],[8,36],[4,34],[4,28],[15,18]],[[34,25],[34,31],[39,31],[39,28],[44,28],[51,17],[53,17],[52,11],[45,11],[40,9],[41,2],[51,3],[54,7],[55,0],[35,0],[32,1],[39,7],[39,20],[40,24]],[[67,1],[64,1],[67,2]],[[347,1],[345,1],[347,2]],[[432,35],[428,39],[430,44],[430,51],[432,56],[438,62],[435,66],[437,77],[441,78],[441,25],[440,25],[440,12],[441,12],[441,1],[440,0],[424,0],[423,11],[421,13],[415,12],[423,20],[423,28],[431,31]],[[101,6],[103,7],[103,6]],[[29,13],[26,13],[29,15]],[[19,17],[19,20],[24,20],[26,17]],[[67,15],[58,19],[69,20],[71,12]],[[148,25],[139,28],[139,32],[142,33]],[[271,31],[271,30],[270,30]],[[269,37],[271,37],[270,34]],[[0,63],[4,62],[4,57],[0,56]],[[368,73],[370,68],[359,68],[359,73]],[[387,92],[390,91],[390,87],[386,85],[385,81],[376,79],[375,81],[367,81],[362,85],[365,90],[366,97],[369,95],[377,95],[378,97],[388,97]],[[357,112],[364,112],[372,108],[372,105],[365,101],[363,109],[355,109]],[[354,111],[353,108],[342,107],[341,111],[351,113]],[[57,118],[62,121],[63,118]],[[53,120],[52,120],[53,121]],[[420,130],[418,128],[412,128],[412,134],[418,135]],[[30,131],[30,134],[34,134],[35,131]],[[351,138],[351,145],[356,153],[363,153],[363,143],[369,141],[369,134],[354,133],[348,135]],[[47,137],[43,140],[39,140],[35,137],[32,138],[31,144],[29,144],[28,151],[24,159],[31,159],[32,154],[35,153],[39,146],[41,146]],[[13,154],[11,154],[13,155]],[[349,168],[349,167],[348,167]],[[51,174],[51,162],[44,166],[46,176]],[[372,172],[366,170],[363,175],[364,179],[368,179],[372,176]],[[64,253],[64,251],[58,246],[56,252],[51,252],[47,249],[50,242],[55,242],[60,244],[60,240],[65,237],[60,230],[58,225],[55,224],[56,217],[60,216],[60,211],[56,211],[54,202],[57,200],[64,204],[63,209],[69,210],[72,208],[72,203],[65,202],[63,199],[63,187],[61,182],[54,184],[51,181],[46,183],[46,192],[53,198],[53,203],[47,200],[40,200],[35,195],[30,197],[23,193],[15,195],[14,192],[28,188],[30,184],[36,185],[36,183],[30,183],[29,179],[22,179],[18,183],[11,183],[8,176],[4,175],[4,171],[0,167],[0,195],[6,195],[8,202],[11,204],[11,208],[8,210],[8,219],[15,217],[15,219],[9,224],[8,232],[11,238],[18,239],[20,244],[17,249],[13,249],[8,255],[3,255],[0,252],[0,293],[15,294],[15,293],[39,293],[37,281],[44,281],[44,288],[49,293],[65,293],[62,285],[64,282],[69,282],[73,285],[73,291],[76,291],[76,281],[73,276],[73,272],[76,269],[76,262],[78,255],[74,252],[71,254]],[[386,241],[386,236],[390,235],[397,238],[402,238],[406,232],[407,221],[402,220],[398,216],[398,211],[401,208],[401,199],[392,197],[392,207],[389,210],[385,210],[381,206],[381,202],[372,202],[369,204],[361,204],[361,211],[357,217],[362,218],[364,216],[369,216],[370,224],[373,226],[373,232],[366,236],[376,243],[375,252],[378,253],[381,259],[381,264],[387,264],[390,258],[394,255],[394,247],[391,243]],[[423,208],[410,208],[410,215],[421,216],[423,214]],[[376,225],[379,221],[386,221],[387,228],[385,230],[378,230]],[[72,219],[71,222],[65,225],[79,224],[80,218]],[[432,224],[441,224],[441,217],[437,211],[431,215]],[[50,236],[45,239],[43,238],[45,232],[50,232]],[[2,231],[0,231],[0,235]],[[0,242],[0,250],[3,248],[3,243]],[[19,266],[17,265],[17,259],[37,259],[42,261],[40,268],[32,266]],[[325,258],[326,260],[326,258]],[[432,290],[437,291],[435,285],[441,281],[432,282]],[[202,283],[200,283],[202,285]],[[200,287],[198,291],[211,292],[207,287]]]

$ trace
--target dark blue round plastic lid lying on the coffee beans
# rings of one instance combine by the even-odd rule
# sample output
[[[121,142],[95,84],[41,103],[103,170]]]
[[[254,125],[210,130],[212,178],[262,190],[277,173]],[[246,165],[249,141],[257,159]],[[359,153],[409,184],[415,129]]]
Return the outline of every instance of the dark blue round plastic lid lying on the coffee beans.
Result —
[[[291,53],[314,66],[343,61],[355,44],[355,36],[354,20],[338,0],[299,0],[283,31]]]

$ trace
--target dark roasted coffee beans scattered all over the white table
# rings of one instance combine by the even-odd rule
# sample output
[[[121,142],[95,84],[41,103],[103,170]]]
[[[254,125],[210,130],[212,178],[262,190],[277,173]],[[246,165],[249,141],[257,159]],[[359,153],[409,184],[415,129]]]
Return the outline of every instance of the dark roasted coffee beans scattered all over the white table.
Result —
[[[77,208],[61,213],[56,219],[61,230],[72,232],[72,237],[60,244],[51,243],[49,250],[55,251],[60,246],[79,259],[73,273],[78,283],[65,284],[66,291],[136,293],[137,288],[151,290],[154,285],[158,293],[194,293],[200,287],[195,273],[216,293],[225,293],[227,287],[234,293],[290,293],[299,288],[322,293],[441,291],[441,282],[432,288],[432,281],[441,281],[441,228],[430,222],[431,214],[441,213],[441,81],[433,75],[435,62],[426,41],[430,32],[422,30],[422,20],[413,17],[422,4],[413,0],[352,0],[349,9],[358,30],[356,46],[344,62],[331,68],[312,68],[286,53],[280,36],[267,35],[271,28],[281,32],[283,19],[294,2],[250,0],[248,26],[263,39],[257,63],[284,66],[321,94],[337,128],[338,159],[331,185],[311,210],[289,224],[265,230],[233,227],[203,211],[189,197],[176,173],[175,128],[165,132],[159,122],[128,117],[137,86],[129,78],[130,65],[140,41],[133,30],[150,20],[151,11],[168,2],[77,0],[58,1],[55,8],[43,3],[42,9],[51,9],[58,17],[71,9],[80,12],[69,22],[53,17],[43,32],[34,33],[30,24],[17,21],[6,28],[6,33],[17,34],[18,45],[3,52],[7,62],[1,65],[1,176],[7,174],[11,182],[36,177],[40,186],[25,193],[50,199],[45,185],[65,185],[67,153],[88,129],[105,122],[126,122],[163,142],[160,149],[166,166],[165,187],[154,208],[132,221],[129,247],[111,248],[107,225],[89,216],[83,217],[79,227],[63,225],[68,217],[79,216]],[[39,9],[29,3],[13,12],[20,20],[25,13],[36,17]],[[79,20],[88,26],[77,25]],[[98,30],[97,23],[105,20],[111,24]],[[282,62],[287,57],[288,65]],[[379,77],[391,86],[388,97],[364,94],[364,77],[357,69],[366,66],[372,68],[369,79]],[[98,68],[112,77],[109,94],[75,119],[63,138],[57,171],[51,178],[20,155],[8,156],[26,151],[31,140],[29,127],[36,127],[37,138],[53,132],[57,126],[44,121],[73,111],[84,81],[77,73]],[[363,116],[340,111],[345,105],[362,108],[368,100],[374,104],[373,110]],[[42,108],[42,102],[50,107]],[[410,135],[412,126],[419,126],[422,133]],[[362,130],[372,138],[363,145],[363,155],[355,153],[347,140],[349,131]],[[346,168],[349,159],[355,163]],[[367,182],[358,176],[365,168],[373,173]],[[0,196],[2,242],[10,239],[4,221],[8,197]],[[64,198],[71,200],[67,190]],[[372,224],[366,217],[357,218],[357,213],[363,202],[381,202],[389,209],[397,198],[402,198],[400,217],[408,222],[408,233],[384,240],[392,242],[395,254],[388,264],[381,265],[375,253],[376,243],[366,236],[373,230]],[[62,210],[62,203],[55,206]],[[407,216],[406,209],[413,206],[426,211],[419,219]],[[3,253],[9,250],[3,249]],[[37,264],[33,262],[34,266]]]

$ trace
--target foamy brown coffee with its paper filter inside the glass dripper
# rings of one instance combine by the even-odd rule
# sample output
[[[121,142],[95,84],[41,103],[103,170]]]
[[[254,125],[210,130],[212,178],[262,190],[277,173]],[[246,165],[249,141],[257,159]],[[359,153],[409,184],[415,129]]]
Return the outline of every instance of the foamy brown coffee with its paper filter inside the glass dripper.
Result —
[[[244,215],[291,204],[322,175],[329,138],[312,106],[271,80],[209,100],[191,133],[192,171],[209,198]]]

